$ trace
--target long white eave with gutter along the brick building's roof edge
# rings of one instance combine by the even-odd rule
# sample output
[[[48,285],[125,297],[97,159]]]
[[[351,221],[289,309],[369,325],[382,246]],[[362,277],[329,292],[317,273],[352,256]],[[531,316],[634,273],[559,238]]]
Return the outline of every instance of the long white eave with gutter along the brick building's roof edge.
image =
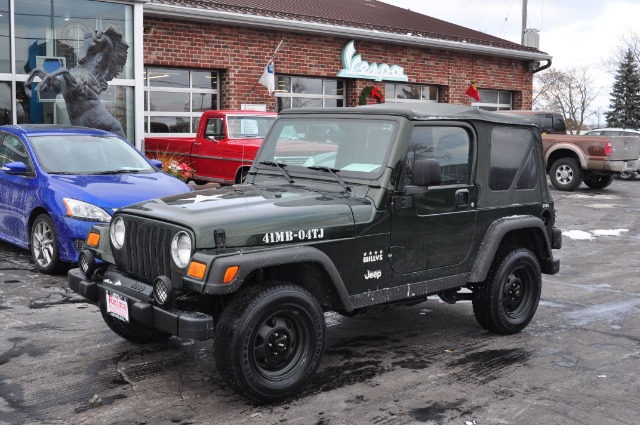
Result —
[[[428,37],[417,37],[408,34],[395,34],[375,30],[344,27],[318,22],[294,21],[291,19],[272,18],[267,16],[246,15],[225,11],[210,11],[184,6],[163,5],[157,3],[146,4],[146,16],[161,18],[179,18],[190,21],[213,22],[224,25],[252,26],[278,31],[293,31],[326,36],[342,36],[352,39],[376,40],[386,43],[412,45],[423,48],[454,50],[465,53],[476,53],[488,56],[501,56],[521,60],[551,60],[552,56],[544,52],[530,52],[524,50],[507,49],[482,44],[466,43],[462,41],[444,40]]]

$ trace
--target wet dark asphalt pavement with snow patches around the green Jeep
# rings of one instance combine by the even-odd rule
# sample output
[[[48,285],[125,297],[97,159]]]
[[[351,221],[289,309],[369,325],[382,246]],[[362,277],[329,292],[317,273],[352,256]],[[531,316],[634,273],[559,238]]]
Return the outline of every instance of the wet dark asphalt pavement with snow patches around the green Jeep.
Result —
[[[637,424],[638,193],[640,181],[553,191],[561,271],[543,275],[522,333],[489,334],[469,302],[436,297],[328,314],[318,373],[274,405],[229,392],[210,342],[119,338],[65,276],[0,242],[0,423]]]

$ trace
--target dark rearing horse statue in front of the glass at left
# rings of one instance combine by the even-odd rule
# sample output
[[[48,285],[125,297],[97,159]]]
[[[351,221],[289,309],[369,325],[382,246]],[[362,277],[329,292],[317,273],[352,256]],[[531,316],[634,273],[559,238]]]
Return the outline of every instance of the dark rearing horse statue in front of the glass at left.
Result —
[[[124,68],[128,50],[129,45],[122,41],[122,33],[113,25],[88,32],[76,67],[58,69],[50,74],[34,69],[24,83],[25,92],[31,96],[31,83],[40,77],[36,91],[50,88],[62,94],[71,124],[99,128],[125,137],[122,125],[100,102],[100,93]]]

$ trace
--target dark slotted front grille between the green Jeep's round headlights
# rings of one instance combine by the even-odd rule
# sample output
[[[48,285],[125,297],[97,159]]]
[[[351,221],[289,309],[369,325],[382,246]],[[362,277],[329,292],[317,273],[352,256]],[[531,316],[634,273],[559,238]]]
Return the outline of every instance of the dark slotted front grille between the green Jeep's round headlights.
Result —
[[[171,276],[171,235],[170,228],[161,224],[126,220],[126,236],[121,261],[127,273],[146,282],[156,277]],[[121,269],[121,265],[118,264]]]

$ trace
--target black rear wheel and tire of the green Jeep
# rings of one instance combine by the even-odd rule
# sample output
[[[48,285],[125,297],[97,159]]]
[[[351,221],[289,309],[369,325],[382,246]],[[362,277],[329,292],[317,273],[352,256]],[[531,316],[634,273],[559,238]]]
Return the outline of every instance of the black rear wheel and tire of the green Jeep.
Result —
[[[524,329],[540,302],[538,259],[526,248],[494,260],[486,280],[473,290],[473,312],[488,331],[509,335]]]

